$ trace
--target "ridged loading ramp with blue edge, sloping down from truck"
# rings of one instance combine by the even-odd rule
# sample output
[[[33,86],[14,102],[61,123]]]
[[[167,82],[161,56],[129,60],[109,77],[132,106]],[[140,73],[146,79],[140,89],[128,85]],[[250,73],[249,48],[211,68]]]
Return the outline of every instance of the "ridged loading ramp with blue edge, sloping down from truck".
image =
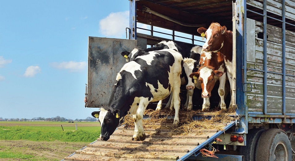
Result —
[[[220,124],[218,124],[220,125]],[[224,124],[228,129],[234,122]],[[187,135],[165,135],[169,129],[144,129],[144,141],[132,141],[134,129],[118,127],[108,141],[98,138],[64,160],[134,161],[184,160],[223,133],[217,129],[192,131]],[[219,134],[220,133],[220,134]]]

